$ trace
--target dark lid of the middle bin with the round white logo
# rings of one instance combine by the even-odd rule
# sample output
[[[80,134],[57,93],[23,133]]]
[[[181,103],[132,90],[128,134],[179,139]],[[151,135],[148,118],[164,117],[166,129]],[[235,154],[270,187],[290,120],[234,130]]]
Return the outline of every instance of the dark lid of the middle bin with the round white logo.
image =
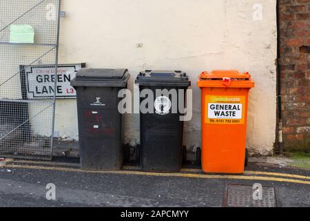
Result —
[[[141,86],[185,86],[191,85],[186,73],[181,70],[145,70],[136,77]]]

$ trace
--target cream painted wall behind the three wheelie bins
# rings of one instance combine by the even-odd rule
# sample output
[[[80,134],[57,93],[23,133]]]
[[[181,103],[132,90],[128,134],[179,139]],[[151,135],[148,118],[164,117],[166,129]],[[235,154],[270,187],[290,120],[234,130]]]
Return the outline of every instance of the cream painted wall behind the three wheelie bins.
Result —
[[[253,6],[261,3],[262,20]],[[249,71],[256,88],[249,97],[247,142],[251,153],[272,153],[276,133],[275,0],[63,0],[61,64],[86,62],[92,68],[185,71],[194,89],[194,115],[185,124],[185,145],[200,146],[202,70]],[[142,47],[138,47],[142,44]],[[139,140],[138,115],[126,116],[127,142]],[[56,102],[56,131],[77,140],[76,101]]]

